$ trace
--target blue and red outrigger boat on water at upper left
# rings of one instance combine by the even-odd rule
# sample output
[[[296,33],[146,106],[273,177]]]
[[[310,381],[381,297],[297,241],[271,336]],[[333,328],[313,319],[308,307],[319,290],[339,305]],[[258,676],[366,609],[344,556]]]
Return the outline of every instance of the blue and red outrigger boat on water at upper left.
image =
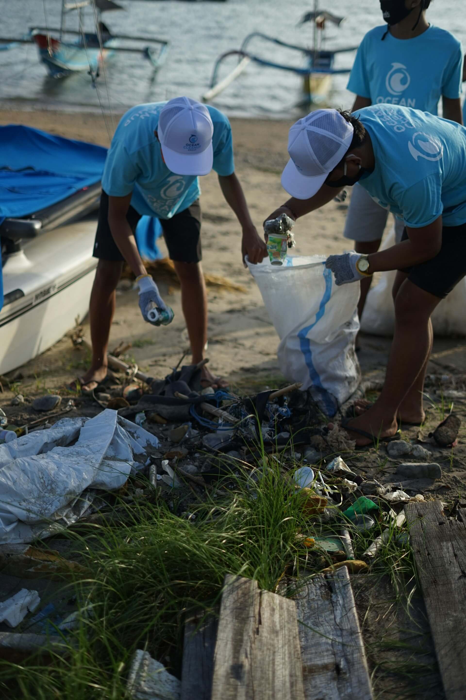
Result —
[[[85,31],[86,7],[92,9],[94,31]],[[159,70],[166,58],[168,41],[150,36],[112,34],[101,18],[102,12],[110,10],[124,8],[113,0],[62,0],[59,28],[31,27],[29,33],[21,38],[0,37],[0,50],[17,48],[33,41],[37,46],[39,58],[53,78],[64,78],[73,73],[88,71],[94,82],[99,77],[103,62],[118,51],[140,53],[150,60],[156,71]],[[66,27],[67,15],[73,11],[77,13],[78,29]],[[72,41],[69,38],[64,39],[65,35],[78,35],[78,38]],[[156,50],[150,45],[143,49],[119,46],[120,39],[155,43],[159,45],[159,49]]]

